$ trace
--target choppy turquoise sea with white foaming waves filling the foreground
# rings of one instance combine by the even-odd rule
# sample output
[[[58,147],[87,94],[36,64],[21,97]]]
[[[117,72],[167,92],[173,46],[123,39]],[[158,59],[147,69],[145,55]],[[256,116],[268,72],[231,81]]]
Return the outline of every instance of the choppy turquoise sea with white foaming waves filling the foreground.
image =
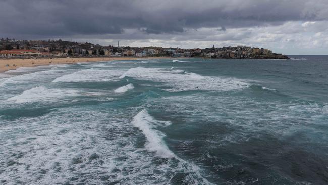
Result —
[[[328,57],[0,74],[1,184],[328,183]]]

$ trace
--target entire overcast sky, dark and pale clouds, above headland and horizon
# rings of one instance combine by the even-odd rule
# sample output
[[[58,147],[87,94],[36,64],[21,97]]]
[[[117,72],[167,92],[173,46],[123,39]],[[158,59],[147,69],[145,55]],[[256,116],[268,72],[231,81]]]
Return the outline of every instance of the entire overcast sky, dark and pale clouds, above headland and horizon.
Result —
[[[0,0],[0,38],[328,55],[328,0]]]

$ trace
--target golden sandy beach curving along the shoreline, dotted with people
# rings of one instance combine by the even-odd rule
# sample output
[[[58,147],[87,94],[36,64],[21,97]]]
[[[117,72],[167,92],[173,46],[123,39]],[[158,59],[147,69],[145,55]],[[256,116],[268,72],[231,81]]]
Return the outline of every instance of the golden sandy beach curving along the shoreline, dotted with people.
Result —
[[[154,58],[154,57],[151,57]],[[35,67],[50,64],[74,64],[78,62],[99,62],[108,60],[136,60],[150,58],[136,57],[80,57],[80,58],[52,58],[52,59],[0,59],[0,72],[15,70],[20,67]]]

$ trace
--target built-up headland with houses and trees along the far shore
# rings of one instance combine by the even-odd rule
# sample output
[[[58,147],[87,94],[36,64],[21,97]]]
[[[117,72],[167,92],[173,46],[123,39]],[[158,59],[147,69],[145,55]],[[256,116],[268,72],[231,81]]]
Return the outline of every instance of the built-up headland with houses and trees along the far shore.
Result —
[[[232,59],[288,59],[286,55],[272,53],[269,49],[245,45],[215,48],[162,48],[101,46],[59,40],[15,40],[0,39],[0,58],[31,57],[202,57]]]

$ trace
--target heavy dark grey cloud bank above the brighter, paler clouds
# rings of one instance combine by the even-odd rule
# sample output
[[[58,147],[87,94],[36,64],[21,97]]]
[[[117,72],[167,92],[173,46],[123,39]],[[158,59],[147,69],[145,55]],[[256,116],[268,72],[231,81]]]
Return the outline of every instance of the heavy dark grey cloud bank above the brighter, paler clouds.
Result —
[[[94,37],[124,34],[127,29],[145,34],[184,34],[188,29],[226,31],[327,19],[325,0],[0,1],[0,37]]]

